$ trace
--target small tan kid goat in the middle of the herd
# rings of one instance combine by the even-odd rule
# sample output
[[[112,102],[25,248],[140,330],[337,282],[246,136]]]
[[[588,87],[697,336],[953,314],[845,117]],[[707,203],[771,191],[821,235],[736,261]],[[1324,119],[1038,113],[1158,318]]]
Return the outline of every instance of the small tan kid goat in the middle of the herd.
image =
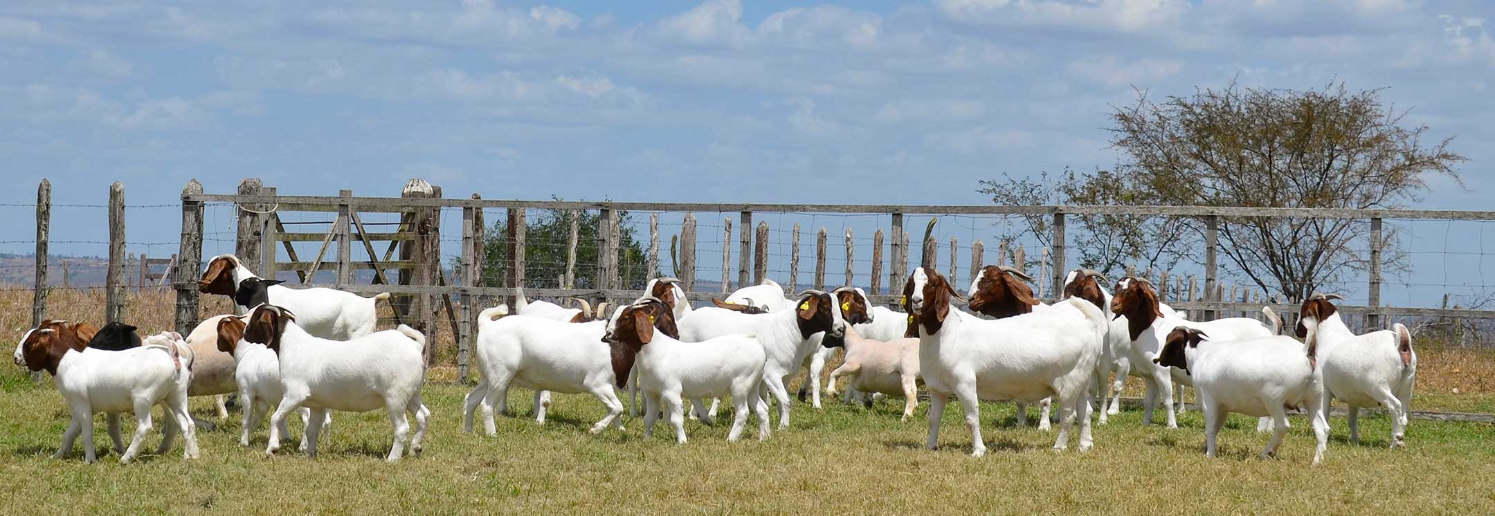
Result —
[[[876,341],[863,338],[852,325],[840,343],[846,347],[846,363],[831,371],[825,392],[834,396],[836,378],[849,375],[848,384],[863,393],[903,396],[901,420],[913,417],[913,408],[919,405],[919,340]]]

